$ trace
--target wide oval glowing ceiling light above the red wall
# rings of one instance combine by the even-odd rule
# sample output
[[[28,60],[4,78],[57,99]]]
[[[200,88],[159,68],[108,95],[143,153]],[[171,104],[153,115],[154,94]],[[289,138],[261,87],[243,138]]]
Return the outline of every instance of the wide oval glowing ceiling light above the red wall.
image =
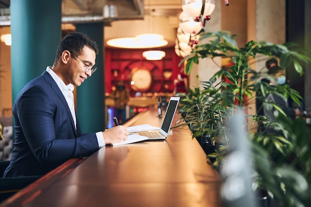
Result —
[[[159,34],[141,34],[136,37],[123,37],[107,41],[107,45],[116,48],[146,49],[167,45],[168,42]]]

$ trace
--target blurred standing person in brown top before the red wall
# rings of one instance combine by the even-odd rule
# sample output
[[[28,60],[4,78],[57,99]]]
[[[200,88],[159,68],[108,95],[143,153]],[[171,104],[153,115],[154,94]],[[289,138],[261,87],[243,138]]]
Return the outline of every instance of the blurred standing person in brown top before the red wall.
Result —
[[[111,93],[114,100],[114,116],[118,118],[119,123],[126,121],[126,106],[130,100],[130,92],[125,87],[123,81],[118,81],[115,90]]]

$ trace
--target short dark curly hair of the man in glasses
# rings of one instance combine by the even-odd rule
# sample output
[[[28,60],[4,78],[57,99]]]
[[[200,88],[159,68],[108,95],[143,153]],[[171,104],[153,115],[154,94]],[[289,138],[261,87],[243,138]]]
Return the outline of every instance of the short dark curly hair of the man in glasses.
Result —
[[[84,46],[89,47],[95,54],[98,54],[98,46],[89,36],[80,32],[68,33],[58,45],[54,64],[60,59],[65,50],[74,53],[73,56],[80,55]]]

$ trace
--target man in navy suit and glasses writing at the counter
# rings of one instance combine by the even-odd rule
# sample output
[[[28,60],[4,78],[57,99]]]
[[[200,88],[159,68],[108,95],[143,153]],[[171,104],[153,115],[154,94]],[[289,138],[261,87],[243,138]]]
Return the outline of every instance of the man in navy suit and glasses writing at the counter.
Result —
[[[68,159],[89,156],[105,144],[127,139],[124,126],[82,134],[73,89],[96,70],[98,47],[73,32],[58,46],[53,67],[27,83],[13,106],[15,142],[3,177],[44,175]]]

